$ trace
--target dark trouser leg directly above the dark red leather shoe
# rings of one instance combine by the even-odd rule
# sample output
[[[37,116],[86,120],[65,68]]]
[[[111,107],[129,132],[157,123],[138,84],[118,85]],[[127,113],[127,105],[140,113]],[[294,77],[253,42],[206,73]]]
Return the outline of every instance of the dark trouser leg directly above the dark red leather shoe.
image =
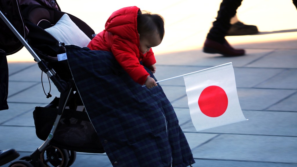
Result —
[[[225,36],[230,29],[230,19],[236,14],[242,0],[223,0],[220,4],[217,19],[207,34],[207,39],[219,43],[225,42]],[[296,1],[296,0],[293,0]]]

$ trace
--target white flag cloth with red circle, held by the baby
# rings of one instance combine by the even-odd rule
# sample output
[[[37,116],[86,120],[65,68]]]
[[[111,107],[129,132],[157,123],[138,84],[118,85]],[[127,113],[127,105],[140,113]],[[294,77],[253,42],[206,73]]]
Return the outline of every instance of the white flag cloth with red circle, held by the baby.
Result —
[[[232,63],[189,73],[184,81],[197,131],[247,120],[239,104]]]

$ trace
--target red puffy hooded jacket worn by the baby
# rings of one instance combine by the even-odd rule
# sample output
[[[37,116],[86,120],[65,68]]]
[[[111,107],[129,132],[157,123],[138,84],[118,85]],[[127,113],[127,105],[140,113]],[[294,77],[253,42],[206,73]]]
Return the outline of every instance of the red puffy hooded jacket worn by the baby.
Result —
[[[143,54],[139,50],[136,6],[124,7],[113,12],[105,23],[105,30],[89,43],[91,50],[110,51],[131,78],[143,85],[149,73],[140,64],[149,67],[156,63],[152,50]]]

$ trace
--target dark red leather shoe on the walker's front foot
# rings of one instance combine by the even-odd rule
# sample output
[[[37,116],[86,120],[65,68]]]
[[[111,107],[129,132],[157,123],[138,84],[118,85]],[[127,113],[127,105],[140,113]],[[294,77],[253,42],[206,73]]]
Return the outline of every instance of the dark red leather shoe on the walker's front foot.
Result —
[[[204,42],[203,52],[219,53],[224,56],[242,56],[245,54],[243,49],[234,49],[227,41],[220,44],[219,42],[209,39],[206,39]]]

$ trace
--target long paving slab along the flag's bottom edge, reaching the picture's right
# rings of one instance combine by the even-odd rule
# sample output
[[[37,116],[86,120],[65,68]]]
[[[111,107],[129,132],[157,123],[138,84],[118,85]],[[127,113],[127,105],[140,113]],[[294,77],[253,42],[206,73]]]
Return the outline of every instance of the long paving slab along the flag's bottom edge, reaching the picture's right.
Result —
[[[243,111],[243,114],[249,120],[202,130],[199,133],[297,137],[296,112]]]

